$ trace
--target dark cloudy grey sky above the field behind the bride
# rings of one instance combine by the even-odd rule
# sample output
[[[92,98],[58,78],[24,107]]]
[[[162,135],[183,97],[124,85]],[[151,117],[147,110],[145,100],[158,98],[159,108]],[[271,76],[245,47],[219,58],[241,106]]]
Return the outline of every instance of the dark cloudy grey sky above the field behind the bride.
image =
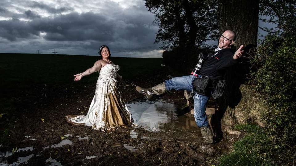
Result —
[[[161,57],[153,20],[142,0],[0,0],[0,52]]]

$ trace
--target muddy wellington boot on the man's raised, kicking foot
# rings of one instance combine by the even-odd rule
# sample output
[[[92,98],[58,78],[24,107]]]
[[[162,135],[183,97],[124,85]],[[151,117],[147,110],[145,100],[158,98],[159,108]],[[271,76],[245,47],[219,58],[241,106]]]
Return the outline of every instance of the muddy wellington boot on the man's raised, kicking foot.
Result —
[[[154,94],[161,95],[167,92],[167,88],[164,82],[148,89],[137,86],[136,90],[139,93],[142,93],[147,100],[150,100]]]

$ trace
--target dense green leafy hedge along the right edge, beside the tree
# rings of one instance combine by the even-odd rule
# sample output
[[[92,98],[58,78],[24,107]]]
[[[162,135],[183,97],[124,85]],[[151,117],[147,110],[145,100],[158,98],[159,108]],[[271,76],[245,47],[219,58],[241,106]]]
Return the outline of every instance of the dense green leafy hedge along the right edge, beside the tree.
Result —
[[[252,63],[258,68],[253,73],[255,89],[270,108],[263,118],[271,148],[276,149],[274,155],[279,160],[288,162],[296,154],[296,35],[267,35]]]

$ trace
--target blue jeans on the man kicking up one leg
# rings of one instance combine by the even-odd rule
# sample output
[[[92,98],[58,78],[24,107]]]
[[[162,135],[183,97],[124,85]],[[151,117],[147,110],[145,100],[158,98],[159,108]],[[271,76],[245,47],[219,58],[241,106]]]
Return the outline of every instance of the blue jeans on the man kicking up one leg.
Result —
[[[166,80],[165,85],[167,90],[187,90],[189,92],[193,91],[192,81],[194,80],[194,75],[174,77],[172,79]],[[195,93],[193,96],[193,107],[194,107],[194,118],[195,123],[198,127],[208,126],[208,118],[206,115],[206,108],[208,102],[207,96]]]

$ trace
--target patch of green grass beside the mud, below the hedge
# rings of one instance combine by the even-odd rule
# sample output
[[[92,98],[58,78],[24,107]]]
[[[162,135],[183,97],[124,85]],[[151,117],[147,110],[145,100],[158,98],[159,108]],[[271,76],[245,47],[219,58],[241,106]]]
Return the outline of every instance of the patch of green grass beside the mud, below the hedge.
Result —
[[[264,130],[253,124],[239,124],[235,128],[249,133],[233,143],[231,152],[220,158],[219,165],[271,165],[271,142]]]

